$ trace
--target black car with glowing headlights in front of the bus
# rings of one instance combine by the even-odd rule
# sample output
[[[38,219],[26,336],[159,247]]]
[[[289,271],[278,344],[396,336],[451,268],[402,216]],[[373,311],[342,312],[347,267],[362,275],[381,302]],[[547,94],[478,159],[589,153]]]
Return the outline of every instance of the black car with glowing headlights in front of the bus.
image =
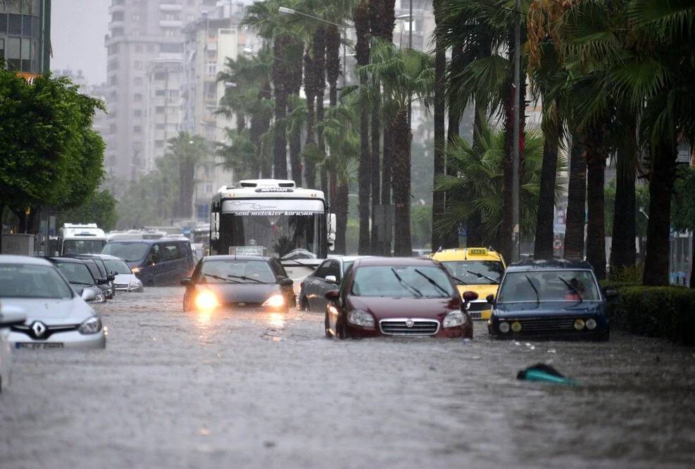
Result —
[[[181,284],[186,287],[184,311],[227,307],[287,312],[296,303],[292,279],[275,258],[204,257]]]

